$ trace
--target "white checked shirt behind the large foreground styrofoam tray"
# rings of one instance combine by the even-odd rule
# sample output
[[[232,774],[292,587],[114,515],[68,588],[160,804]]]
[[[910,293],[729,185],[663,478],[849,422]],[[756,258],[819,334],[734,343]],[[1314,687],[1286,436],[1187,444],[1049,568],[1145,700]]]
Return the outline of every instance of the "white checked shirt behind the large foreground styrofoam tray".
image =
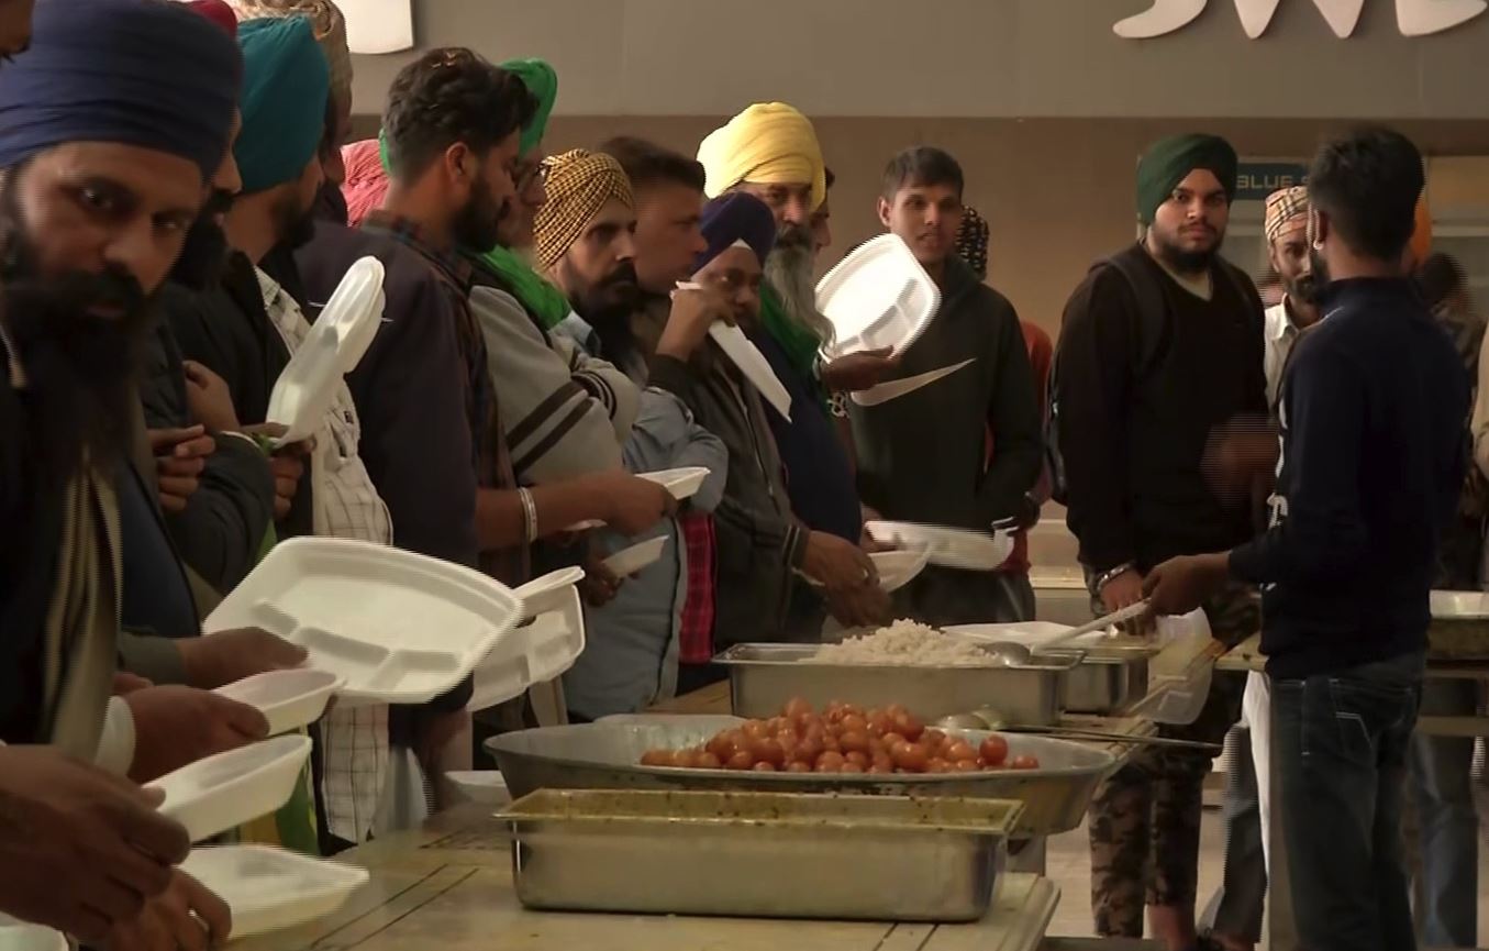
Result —
[[[293,355],[310,334],[310,322],[284,288],[262,270],[258,276],[264,310]],[[362,422],[342,380],[310,459],[314,531],[390,546],[393,519],[357,455],[360,440]],[[337,838],[360,844],[374,826],[390,775],[387,705],[332,710],[320,720],[320,730],[326,826]]]

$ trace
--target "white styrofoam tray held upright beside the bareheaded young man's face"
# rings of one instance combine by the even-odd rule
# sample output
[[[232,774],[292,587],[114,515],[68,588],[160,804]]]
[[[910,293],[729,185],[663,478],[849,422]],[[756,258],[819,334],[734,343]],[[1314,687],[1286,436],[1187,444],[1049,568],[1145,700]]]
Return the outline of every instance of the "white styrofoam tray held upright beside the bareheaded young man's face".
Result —
[[[859,350],[910,349],[941,307],[941,289],[895,234],[864,241],[817,282],[817,310],[837,335],[828,359]]]

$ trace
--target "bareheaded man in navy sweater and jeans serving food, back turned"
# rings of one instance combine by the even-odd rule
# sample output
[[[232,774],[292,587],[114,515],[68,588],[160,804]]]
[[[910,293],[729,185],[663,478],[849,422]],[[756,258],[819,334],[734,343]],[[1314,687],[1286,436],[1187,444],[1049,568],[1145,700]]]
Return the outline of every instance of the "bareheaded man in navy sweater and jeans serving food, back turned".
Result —
[[[1468,411],[1464,367],[1403,270],[1423,183],[1421,154],[1389,130],[1319,151],[1309,236],[1325,319],[1282,380],[1272,529],[1145,584],[1163,613],[1227,577],[1263,586],[1273,768],[1310,951],[1416,947],[1401,790]]]

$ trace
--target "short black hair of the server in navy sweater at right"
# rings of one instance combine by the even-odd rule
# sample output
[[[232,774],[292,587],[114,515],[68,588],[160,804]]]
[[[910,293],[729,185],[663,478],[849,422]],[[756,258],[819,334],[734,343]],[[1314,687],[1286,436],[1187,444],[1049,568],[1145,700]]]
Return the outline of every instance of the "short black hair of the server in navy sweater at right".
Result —
[[[1398,261],[1406,252],[1425,186],[1422,154],[1383,125],[1325,142],[1307,176],[1312,207],[1328,216],[1351,250],[1377,261]]]

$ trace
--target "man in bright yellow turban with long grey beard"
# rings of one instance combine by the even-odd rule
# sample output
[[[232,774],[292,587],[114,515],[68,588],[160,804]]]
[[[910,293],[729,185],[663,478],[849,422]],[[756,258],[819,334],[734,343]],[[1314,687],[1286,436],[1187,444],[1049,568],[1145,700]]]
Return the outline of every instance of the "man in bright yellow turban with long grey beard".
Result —
[[[791,392],[791,420],[770,413],[771,431],[791,473],[792,511],[807,528],[858,544],[862,508],[844,440],[828,411],[832,392],[879,382],[887,352],[855,353],[823,365],[819,352],[832,325],[816,307],[813,213],[826,200],[826,167],[812,122],[785,103],[756,103],[710,133],[698,146],[710,198],[731,191],[755,195],[776,219],[765,261],[759,326],[749,335]],[[855,590],[829,592],[832,614],[856,626],[887,620],[889,602],[870,578]],[[792,634],[822,625],[816,592],[794,596]]]

